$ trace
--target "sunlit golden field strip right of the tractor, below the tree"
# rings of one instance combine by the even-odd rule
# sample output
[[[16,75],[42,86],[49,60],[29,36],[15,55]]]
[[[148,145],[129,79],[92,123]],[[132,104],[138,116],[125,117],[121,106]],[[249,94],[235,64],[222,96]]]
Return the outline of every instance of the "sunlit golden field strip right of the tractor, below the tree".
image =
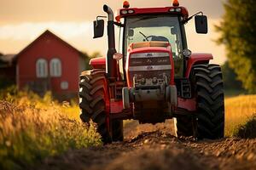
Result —
[[[225,99],[225,135],[234,136],[256,113],[256,95]]]

